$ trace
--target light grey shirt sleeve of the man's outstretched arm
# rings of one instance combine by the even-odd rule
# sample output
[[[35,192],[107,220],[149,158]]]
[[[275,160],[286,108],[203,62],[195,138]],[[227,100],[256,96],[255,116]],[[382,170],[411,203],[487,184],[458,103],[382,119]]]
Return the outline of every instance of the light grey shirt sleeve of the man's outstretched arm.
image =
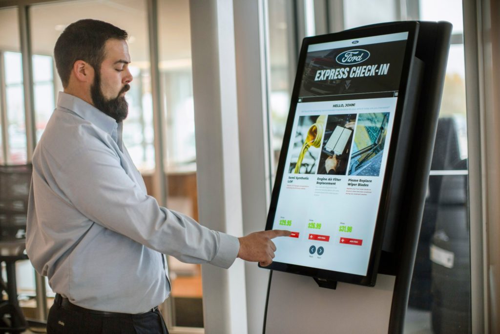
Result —
[[[66,159],[58,186],[90,221],[183,262],[228,268],[236,237],[212,231],[194,219],[161,207],[132,181],[111,149],[92,145]]]

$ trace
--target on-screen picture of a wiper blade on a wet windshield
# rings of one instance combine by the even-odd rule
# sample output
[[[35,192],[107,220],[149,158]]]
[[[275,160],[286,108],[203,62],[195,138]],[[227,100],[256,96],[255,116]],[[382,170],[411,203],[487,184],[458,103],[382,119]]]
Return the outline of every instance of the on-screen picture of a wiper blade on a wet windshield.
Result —
[[[389,113],[359,114],[348,175],[378,176]]]

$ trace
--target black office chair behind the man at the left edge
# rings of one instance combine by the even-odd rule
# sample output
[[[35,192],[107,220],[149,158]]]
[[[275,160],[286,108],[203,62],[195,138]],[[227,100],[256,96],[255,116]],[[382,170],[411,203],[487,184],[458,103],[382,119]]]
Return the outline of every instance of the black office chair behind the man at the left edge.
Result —
[[[0,303],[0,332],[21,332],[27,322],[17,301],[15,261],[25,254],[26,214],[31,165],[0,166],[0,262],[5,263],[7,282],[0,281],[7,300]]]

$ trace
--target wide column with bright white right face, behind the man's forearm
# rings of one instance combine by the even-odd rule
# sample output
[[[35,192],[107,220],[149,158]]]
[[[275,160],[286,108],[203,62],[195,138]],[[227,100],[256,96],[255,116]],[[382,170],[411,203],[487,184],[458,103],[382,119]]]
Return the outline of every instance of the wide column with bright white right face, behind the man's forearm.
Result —
[[[242,235],[231,0],[191,0],[191,49],[200,223]],[[205,332],[246,333],[244,264],[202,266]]]

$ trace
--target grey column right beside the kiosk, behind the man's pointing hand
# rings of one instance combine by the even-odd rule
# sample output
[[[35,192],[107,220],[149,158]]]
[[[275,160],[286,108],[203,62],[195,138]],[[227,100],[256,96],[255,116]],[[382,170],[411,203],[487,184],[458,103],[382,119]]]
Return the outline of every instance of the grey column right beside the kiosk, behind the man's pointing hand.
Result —
[[[270,197],[265,1],[234,2],[243,232],[265,227]],[[262,333],[269,270],[245,263],[248,333]]]

